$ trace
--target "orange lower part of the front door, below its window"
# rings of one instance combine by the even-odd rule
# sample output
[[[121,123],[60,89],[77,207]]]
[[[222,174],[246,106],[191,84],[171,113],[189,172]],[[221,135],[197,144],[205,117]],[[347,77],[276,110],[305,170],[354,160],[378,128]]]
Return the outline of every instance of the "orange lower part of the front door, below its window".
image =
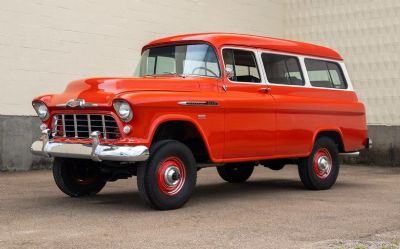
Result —
[[[225,158],[275,154],[275,101],[259,84],[226,83]]]

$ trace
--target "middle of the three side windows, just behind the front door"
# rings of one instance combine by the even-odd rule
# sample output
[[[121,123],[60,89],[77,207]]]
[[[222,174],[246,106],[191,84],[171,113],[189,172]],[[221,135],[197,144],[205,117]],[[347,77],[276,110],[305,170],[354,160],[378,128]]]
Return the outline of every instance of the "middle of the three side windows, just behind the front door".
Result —
[[[297,57],[263,53],[261,58],[268,82],[286,85],[304,85],[304,78]]]

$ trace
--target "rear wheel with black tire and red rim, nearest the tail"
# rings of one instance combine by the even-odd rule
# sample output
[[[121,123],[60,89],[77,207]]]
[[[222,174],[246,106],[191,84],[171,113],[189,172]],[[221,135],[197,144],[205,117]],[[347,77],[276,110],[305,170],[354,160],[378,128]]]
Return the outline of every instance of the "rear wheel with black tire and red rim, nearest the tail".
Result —
[[[318,166],[319,159],[322,160],[321,165],[324,165],[326,161],[328,165],[331,166],[326,169],[321,169],[320,166]],[[306,188],[312,190],[331,188],[338,177],[339,167],[338,147],[335,142],[328,137],[318,138],[315,141],[310,156],[302,158],[298,162],[300,179]]]

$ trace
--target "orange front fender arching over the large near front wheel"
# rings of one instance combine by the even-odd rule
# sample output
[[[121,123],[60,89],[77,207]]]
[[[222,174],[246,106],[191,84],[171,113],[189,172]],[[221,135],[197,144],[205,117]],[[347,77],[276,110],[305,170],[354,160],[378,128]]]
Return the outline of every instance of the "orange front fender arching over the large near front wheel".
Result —
[[[142,91],[115,97],[128,101],[133,109],[131,136],[135,143],[148,147],[157,128],[168,121],[190,122],[197,129],[212,161],[222,160],[224,147],[224,109],[215,106],[185,106],[180,101],[220,101],[214,92]]]

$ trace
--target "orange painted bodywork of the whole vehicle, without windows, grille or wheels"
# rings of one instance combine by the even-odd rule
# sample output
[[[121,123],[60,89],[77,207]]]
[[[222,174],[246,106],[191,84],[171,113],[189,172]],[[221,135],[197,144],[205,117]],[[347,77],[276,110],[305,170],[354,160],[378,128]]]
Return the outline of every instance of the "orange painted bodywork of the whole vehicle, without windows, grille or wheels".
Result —
[[[206,42],[216,48],[233,39],[218,38],[215,34],[201,34],[199,37],[207,38]],[[194,40],[193,35],[186,38]],[[174,40],[183,42],[186,38],[166,38],[147,46]],[[253,47],[260,39],[246,37],[242,42]],[[276,50],[286,49],[299,54],[321,53],[322,57],[341,59],[340,55],[327,48],[320,47],[321,51],[315,51],[302,43],[276,42]],[[303,53],[301,46],[304,46]],[[217,54],[221,62],[220,51]],[[222,90],[223,84],[228,87],[226,92]],[[320,131],[337,131],[346,152],[365,147],[365,109],[354,91],[273,84],[268,85],[270,91],[260,91],[263,87],[267,85],[232,83],[223,77],[92,78],[72,82],[61,94],[45,95],[35,100],[43,101],[51,116],[55,113],[111,114],[120,130],[126,124],[115,114],[112,103],[116,99],[128,101],[134,113],[128,123],[132,127],[131,133],[125,135],[121,132],[121,139],[101,141],[106,144],[150,147],[157,127],[163,122],[191,122],[198,129],[210,159],[215,163],[304,157],[310,154]],[[85,99],[87,103],[98,106],[84,109],[58,106],[70,99]],[[218,105],[185,106],[178,103],[181,101],[214,101]],[[206,118],[201,119],[199,115]],[[51,119],[46,124],[50,126]],[[91,142],[90,139],[57,139]]]

